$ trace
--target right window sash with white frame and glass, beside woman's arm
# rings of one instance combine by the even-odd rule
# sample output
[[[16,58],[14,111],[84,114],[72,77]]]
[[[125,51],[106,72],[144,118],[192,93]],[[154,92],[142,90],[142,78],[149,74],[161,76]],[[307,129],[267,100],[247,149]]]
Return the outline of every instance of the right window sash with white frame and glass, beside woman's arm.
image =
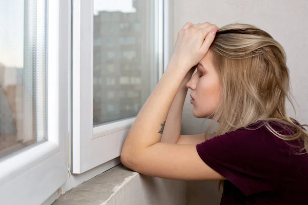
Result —
[[[73,5],[73,174],[120,156],[121,142],[163,73],[168,45],[162,0],[92,1]],[[97,51],[100,59],[93,57]]]

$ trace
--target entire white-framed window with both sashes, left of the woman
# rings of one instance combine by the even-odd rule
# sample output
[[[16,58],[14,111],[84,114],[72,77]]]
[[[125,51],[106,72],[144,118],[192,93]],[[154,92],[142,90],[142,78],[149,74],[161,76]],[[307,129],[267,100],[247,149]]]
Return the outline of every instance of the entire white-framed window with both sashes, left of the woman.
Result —
[[[1,204],[45,204],[120,162],[163,72],[166,15],[163,0],[112,2],[0,0]]]

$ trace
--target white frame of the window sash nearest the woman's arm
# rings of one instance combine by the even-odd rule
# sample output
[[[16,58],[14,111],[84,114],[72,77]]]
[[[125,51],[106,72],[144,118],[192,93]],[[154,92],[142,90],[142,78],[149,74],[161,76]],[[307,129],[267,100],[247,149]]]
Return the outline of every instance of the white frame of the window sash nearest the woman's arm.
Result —
[[[72,174],[81,174],[110,160],[119,160],[128,131],[136,117],[93,128],[93,0],[73,1],[72,48]],[[169,32],[169,3],[155,2],[155,53],[152,63],[159,68],[159,79],[173,47]],[[164,17],[163,17],[164,16]],[[166,59],[166,60],[164,60]],[[155,88],[157,81],[152,83]],[[119,161],[117,162],[117,164]],[[114,166],[114,163],[108,163]],[[104,170],[110,169],[105,166]]]

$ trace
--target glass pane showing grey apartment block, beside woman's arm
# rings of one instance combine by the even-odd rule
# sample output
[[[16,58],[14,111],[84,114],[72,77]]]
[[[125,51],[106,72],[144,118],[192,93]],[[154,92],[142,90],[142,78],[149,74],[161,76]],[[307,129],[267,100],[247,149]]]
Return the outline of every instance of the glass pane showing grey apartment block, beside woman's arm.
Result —
[[[136,116],[157,83],[154,2],[94,0],[94,126]]]

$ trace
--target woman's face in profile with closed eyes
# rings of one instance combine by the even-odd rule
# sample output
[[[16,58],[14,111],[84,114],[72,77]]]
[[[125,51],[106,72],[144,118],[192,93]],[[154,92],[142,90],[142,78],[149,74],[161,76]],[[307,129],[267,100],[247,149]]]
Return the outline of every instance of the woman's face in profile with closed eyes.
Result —
[[[213,64],[213,53],[208,51],[200,61],[197,73],[186,84],[191,89],[192,114],[198,118],[207,118],[218,106],[221,84]]]

